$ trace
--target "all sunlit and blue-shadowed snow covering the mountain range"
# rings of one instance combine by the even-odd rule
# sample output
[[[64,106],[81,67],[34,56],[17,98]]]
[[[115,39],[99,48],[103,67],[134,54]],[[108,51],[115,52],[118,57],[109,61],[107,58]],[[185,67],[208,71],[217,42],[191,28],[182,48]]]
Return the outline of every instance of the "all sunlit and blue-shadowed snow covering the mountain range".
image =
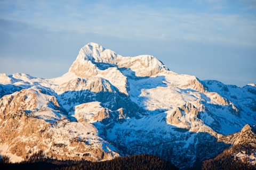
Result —
[[[143,146],[140,145],[140,148],[148,145],[145,150],[137,148],[134,154],[150,153],[151,147],[167,143],[194,163],[199,132],[217,138],[221,134],[239,131],[247,123],[256,122],[253,83],[239,88],[219,81],[201,81],[195,76],[169,71],[154,56],[124,57],[96,43],[81,48],[69,72],[61,77],[41,79],[20,73],[0,74],[0,83],[3,89],[0,89],[3,95],[0,105],[7,105],[11,96],[19,96],[23,89],[26,99],[22,107],[25,107],[27,116],[51,122],[48,124],[53,142],[67,145],[71,156],[81,154],[74,151],[76,147],[70,145],[71,140],[88,144],[86,149],[100,148],[113,157],[117,156],[117,149],[109,142],[119,142],[118,145],[125,145],[128,149],[141,143]],[[104,94],[104,100],[99,99],[102,102],[94,101],[99,93]],[[109,113],[117,113],[110,110],[115,107],[109,103],[112,95],[115,97],[113,100],[125,100],[125,105],[138,105],[142,111],[137,113],[138,109],[121,120],[109,116]],[[87,102],[88,98],[93,100]],[[35,108],[31,106],[34,100]],[[186,107],[186,112],[181,110],[179,123],[167,121],[173,111],[188,105],[195,108],[198,114],[193,114]],[[122,111],[126,115],[130,108]],[[49,148],[51,145],[49,143]],[[1,153],[10,155],[7,147],[1,144]],[[62,150],[57,151],[66,154]],[[93,152],[91,154],[98,161]],[[14,162],[21,160],[15,155],[10,156]],[[242,153],[237,155],[242,156]],[[255,161],[251,156],[250,159]]]

